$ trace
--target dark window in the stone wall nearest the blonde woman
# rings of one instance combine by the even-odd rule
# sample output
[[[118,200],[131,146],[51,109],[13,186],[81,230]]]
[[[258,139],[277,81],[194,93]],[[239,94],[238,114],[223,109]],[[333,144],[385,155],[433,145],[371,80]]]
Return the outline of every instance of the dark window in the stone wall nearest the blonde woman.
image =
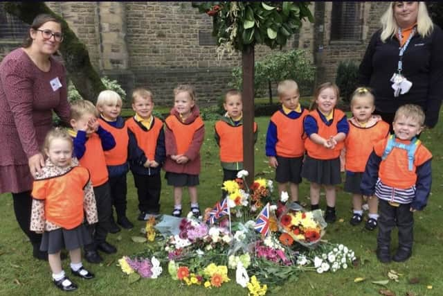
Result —
[[[360,2],[332,2],[331,40],[361,40],[363,17]]]

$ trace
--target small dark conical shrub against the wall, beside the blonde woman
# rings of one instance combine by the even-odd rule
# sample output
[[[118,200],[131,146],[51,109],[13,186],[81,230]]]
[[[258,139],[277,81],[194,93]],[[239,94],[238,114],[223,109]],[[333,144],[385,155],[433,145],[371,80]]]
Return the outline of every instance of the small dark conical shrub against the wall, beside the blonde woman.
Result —
[[[345,105],[349,105],[351,101],[350,96],[359,83],[358,77],[359,67],[354,62],[348,60],[338,64],[335,83],[340,88],[340,94]]]

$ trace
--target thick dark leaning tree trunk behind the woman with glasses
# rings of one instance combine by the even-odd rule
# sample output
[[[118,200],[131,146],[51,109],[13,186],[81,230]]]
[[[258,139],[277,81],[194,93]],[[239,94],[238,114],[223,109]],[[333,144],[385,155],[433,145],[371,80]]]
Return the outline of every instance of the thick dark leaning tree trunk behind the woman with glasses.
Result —
[[[60,19],[64,35],[63,42],[60,44],[60,52],[62,53],[66,70],[69,73],[69,78],[75,85],[75,88],[77,88],[80,96],[95,103],[98,94],[105,89],[105,85],[103,85],[100,76],[91,65],[86,46],[78,40],[78,37],[69,28],[66,21],[49,9],[44,2],[8,2],[5,3],[5,10],[26,24],[32,24],[33,19],[42,13],[53,15],[53,17]]]

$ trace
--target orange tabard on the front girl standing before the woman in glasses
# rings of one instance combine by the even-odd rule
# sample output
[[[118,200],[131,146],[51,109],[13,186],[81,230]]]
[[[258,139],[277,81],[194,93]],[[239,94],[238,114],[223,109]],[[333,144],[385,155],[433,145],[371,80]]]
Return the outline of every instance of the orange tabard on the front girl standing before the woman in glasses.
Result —
[[[64,175],[35,180],[31,195],[36,200],[44,200],[46,220],[73,229],[83,222],[83,189],[88,181],[87,168],[75,166]]]

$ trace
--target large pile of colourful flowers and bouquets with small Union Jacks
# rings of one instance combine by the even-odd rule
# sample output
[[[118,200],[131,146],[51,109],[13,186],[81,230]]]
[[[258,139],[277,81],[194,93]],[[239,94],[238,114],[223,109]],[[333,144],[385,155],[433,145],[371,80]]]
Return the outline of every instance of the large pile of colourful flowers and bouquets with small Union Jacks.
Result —
[[[237,180],[224,182],[226,198],[204,217],[189,213],[186,218],[165,215],[156,225],[148,221],[143,231],[154,241],[148,239],[144,252],[119,260],[132,277],[129,282],[158,277],[163,264],[183,286],[219,288],[235,279],[249,295],[265,295],[300,272],[353,266],[352,250],[322,240],[327,223],[320,210],[288,202],[287,193],[273,200],[270,180],[247,186],[246,176],[240,171]]]

